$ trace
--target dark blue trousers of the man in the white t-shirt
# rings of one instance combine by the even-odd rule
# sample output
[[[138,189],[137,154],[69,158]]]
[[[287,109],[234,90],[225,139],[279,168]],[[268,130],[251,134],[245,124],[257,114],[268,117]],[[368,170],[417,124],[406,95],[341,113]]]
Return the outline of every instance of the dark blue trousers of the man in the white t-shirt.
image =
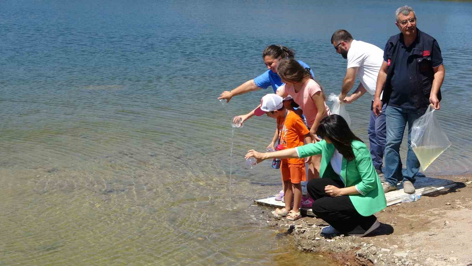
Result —
[[[384,157],[384,150],[387,134],[387,124],[385,122],[385,108],[387,105],[382,106],[382,113],[379,116],[371,111],[371,121],[369,122],[369,149],[371,151],[372,162],[374,168],[382,170],[382,161]]]

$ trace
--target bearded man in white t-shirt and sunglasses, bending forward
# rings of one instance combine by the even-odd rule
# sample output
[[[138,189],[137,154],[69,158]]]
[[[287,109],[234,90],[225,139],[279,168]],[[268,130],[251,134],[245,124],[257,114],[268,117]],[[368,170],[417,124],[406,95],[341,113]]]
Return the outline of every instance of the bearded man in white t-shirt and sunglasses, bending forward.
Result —
[[[331,36],[331,44],[333,44],[337,53],[340,53],[343,58],[347,59],[347,71],[341,93],[339,94],[339,100],[350,104],[365,92],[369,92],[372,96],[371,118],[368,130],[370,151],[374,168],[377,170],[380,180],[384,182],[382,161],[386,144],[386,105],[383,106],[382,113],[379,116],[376,116],[372,111],[377,75],[383,62],[383,50],[373,44],[354,40],[353,36],[344,29],[335,31]],[[350,96],[346,97],[347,93],[354,86],[356,75],[359,77],[361,84]]]

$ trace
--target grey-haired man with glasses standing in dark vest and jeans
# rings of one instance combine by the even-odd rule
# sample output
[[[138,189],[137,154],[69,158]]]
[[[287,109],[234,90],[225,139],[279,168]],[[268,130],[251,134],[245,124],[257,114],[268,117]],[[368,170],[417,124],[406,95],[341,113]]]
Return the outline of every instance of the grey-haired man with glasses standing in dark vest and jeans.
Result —
[[[384,192],[396,190],[397,180],[403,180],[405,193],[413,194],[413,183],[420,162],[411,145],[413,121],[432,104],[440,108],[440,88],[444,66],[438,42],[416,28],[416,15],[409,6],[396,9],[395,25],[400,34],[390,37],[384,49],[384,62],[377,77],[373,111],[379,115],[387,104],[387,144],[385,146]],[[384,86],[385,85],[385,86]],[[382,100],[380,93],[383,91]],[[402,174],[400,144],[408,124],[406,171]],[[403,177],[402,177],[403,176]]]

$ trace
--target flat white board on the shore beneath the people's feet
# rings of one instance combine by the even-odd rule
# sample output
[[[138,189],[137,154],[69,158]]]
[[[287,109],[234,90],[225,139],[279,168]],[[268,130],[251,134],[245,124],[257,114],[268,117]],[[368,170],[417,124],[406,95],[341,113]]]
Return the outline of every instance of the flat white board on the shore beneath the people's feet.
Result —
[[[414,187],[416,188],[415,194],[417,195],[426,195],[428,193],[444,190],[453,186],[456,186],[454,181],[431,177],[417,177],[416,182],[414,183]],[[390,191],[385,194],[385,198],[387,199],[387,206],[400,203],[402,201],[402,196],[407,195],[403,191],[402,184],[399,183],[397,188],[398,189],[396,191]],[[256,204],[268,207],[285,207],[285,204],[283,202],[275,200],[275,195],[269,196],[264,199],[255,200],[254,202]],[[306,214],[313,215],[312,209],[304,210],[306,211]]]

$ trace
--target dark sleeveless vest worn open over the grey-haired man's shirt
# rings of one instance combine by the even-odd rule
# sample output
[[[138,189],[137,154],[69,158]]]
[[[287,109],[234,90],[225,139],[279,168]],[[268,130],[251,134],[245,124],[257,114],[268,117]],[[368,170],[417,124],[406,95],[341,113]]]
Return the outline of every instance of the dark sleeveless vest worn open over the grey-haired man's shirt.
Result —
[[[418,40],[416,41],[415,47],[413,47],[413,54],[411,55],[414,56],[412,64],[415,65],[411,69],[412,71],[415,71],[415,73],[409,74],[411,77],[413,77],[413,80],[411,80],[412,89],[422,91],[422,94],[418,93],[418,95],[424,96],[424,98],[420,97],[418,99],[415,99],[414,107],[416,107],[417,109],[423,109],[424,107],[427,107],[430,104],[430,93],[434,79],[434,72],[430,57],[430,53],[431,51],[433,51],[432,48],[434,38],[420,31],[418,28],[416,28],[416,30],[418,31]],[[387,80],[385,81],[385,87],[383,90],[382,102],[384,104],[388,104],[388,101],[390,100],[390,95],[392,93],[391,81],[395,71],[396,56],[401,46],[401,35],[402,33],[391,36],[387,42],[387,44],[391,45],[390,47],[393,47],[393,53],[391,55],[391,58],[389,58],[390,62],[388,65]],[[441,100],[440,89],[438,91],[438,100]]]

